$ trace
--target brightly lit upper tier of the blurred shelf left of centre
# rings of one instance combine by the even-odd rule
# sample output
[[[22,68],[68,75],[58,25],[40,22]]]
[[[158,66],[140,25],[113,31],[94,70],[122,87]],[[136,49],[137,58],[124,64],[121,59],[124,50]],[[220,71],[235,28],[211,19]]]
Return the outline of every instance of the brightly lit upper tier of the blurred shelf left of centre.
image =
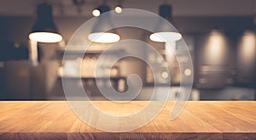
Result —
[[[81,77],[96,77],[101,76],[120,76],[121,61],[113,63],[115,53],[122,53],[124,50],[113,50],[108,53],[103,51],[89,51],[84,54],[83,51],[66,51],[65,59],[61,62],[59,70],[60,76],[81,76]],[[59,51],[61,57],[64,52]],[[99,60],[101,57],[101,60]],[[97,70],[97,73],[96,73]]]

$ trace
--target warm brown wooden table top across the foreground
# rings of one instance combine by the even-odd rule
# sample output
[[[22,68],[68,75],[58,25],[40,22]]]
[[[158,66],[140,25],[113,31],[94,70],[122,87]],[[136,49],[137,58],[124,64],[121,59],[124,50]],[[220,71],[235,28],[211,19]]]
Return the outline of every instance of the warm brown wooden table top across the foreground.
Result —
[[[92,104],[107,111],[119,108],[108,101]],[[145,104],[134,101],[129,109]],[[256,139],[256,101],[189,101],[170,120],[173,104],[167,102],[153,121],[137,130],[102,132],[79,120],[67,101],[1,101],[0,139]],[[128,108],[118,110],[125,114]]]

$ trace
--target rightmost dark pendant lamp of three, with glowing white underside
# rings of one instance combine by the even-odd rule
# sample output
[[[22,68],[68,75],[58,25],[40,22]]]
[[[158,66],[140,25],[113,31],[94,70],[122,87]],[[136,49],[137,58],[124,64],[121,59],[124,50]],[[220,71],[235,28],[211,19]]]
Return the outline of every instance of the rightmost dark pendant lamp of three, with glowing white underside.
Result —
[[[182,35],[175,31],[167,21],[172,21],[172,6],[169,4],[160,5],[160,18],[154,33],[149,36],[154,42],[178,41]]]

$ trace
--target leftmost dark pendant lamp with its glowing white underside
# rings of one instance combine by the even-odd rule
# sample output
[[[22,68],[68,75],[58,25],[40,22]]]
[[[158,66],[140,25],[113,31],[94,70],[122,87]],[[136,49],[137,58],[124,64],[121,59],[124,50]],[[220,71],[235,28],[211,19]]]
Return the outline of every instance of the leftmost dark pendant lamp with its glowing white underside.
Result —
[[[41,3],[37,8],[38,18],[29,34],[29,39],[36,42],[60,42],[62,36],[58,33],[52,16],[52,8],[48,3]]]

